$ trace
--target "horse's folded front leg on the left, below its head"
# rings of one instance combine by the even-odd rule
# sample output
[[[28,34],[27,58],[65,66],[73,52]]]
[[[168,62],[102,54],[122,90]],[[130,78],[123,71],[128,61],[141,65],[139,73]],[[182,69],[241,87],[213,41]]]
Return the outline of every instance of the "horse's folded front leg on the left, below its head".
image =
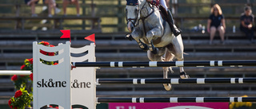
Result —
[[[140,41],[140,38],[142,38],[142,31],[139,28],[135,28],[134,32],[131,33],[131,36],[138,43],[140,49],[143,49],[144,51],[148,50],[148,46]]]

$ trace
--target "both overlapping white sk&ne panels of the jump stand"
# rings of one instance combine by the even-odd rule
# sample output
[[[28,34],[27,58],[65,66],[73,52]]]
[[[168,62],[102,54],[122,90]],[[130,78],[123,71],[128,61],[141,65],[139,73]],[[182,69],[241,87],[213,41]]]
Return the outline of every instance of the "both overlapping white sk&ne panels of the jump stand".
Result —
[[[94,44],[82,48],[70,48],[70,42],[56,47],[46,47],[34,42],[34,108],[49,104],[64,109],[70,109],[71,106],[95,108],[95,100],[85,99],[96,98],[95,68],[83,67],[71,70],[70,64],[71,61],[95,62],[94,48]],[[58,55],[46,56],[40,53],[40,50]],[[70,56],[70,53],[78,56]],[[58,61],[58,64],[42,64],[40,60]]]

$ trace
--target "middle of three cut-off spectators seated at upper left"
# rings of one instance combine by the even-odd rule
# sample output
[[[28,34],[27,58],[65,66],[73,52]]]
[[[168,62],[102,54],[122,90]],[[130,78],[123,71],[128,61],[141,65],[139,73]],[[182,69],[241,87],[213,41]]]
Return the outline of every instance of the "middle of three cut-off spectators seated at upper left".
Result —
[[[48,5],[48,17],[53,17],[51,10],[54,9],[54,14],[58,14],[61,10],[56,7],[55,0],[42,0],[44,4]]]

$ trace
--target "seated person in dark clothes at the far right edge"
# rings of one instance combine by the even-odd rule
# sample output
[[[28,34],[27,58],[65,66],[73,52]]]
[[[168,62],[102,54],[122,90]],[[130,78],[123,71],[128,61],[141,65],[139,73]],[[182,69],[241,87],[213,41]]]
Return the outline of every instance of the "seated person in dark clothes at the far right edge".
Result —
[[[240,17],[240,29],[243,33],[246,33],[246,37],[254,42],[254,15],[250,9],[250,6],[246,6],[244,9],[244,13],[242,13]]]

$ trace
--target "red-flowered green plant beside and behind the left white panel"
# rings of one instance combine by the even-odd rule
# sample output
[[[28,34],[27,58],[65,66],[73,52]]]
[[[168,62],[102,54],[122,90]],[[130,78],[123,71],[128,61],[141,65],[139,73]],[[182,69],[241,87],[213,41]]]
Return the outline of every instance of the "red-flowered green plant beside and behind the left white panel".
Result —
[[[41,41],[39,45],[45,45],[48,47],[54,47],[50,45],[47,41]],[[47,53],[43,50],[40,50],[40,53],[47,56],[55,56],[56,53]],[[43,64],[54,65],[58,64],[54,61],[40,60]],[[30,103],[33,100],[33,58],[25,59],[24,63],[21,66],[21,70],[30,70],[32,73],[30,76],[17,76],[14,75],[11,77],[11,80],[14,82],[15,88],[19,89],[15,92],[15,95],[10,98],[8,104],[12,109],[24,109],[25,107],[31,107]],[[31,80],[31,82],[29,82]]]

